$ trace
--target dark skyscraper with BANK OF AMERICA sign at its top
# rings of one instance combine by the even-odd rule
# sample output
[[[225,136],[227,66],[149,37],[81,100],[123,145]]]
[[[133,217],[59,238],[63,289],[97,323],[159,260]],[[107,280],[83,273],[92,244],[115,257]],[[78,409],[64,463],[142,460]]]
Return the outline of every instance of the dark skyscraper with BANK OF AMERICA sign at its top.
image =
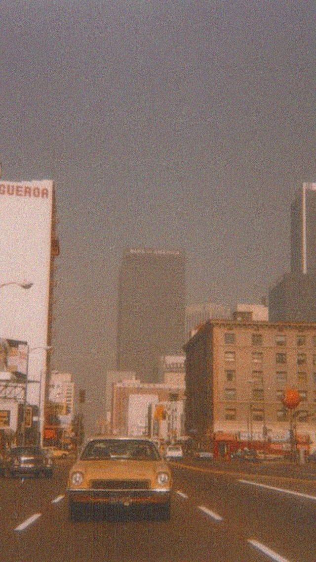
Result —
[[[128,248],[118,285],[117,369],[158,381],[162,355],[181,355],[185,339],[185,253]]]

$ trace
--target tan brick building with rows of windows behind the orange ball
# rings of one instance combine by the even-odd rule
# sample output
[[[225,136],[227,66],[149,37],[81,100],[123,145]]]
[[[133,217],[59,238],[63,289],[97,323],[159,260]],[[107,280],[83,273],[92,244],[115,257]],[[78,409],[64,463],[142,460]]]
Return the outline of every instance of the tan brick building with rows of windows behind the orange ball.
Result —
[[[186,432],[197,443],[316,448],[316,324],[209,320],[184,346]],[[290,414],[286,388],[300,404]],[[290,427],[292,424],[292,427]]]

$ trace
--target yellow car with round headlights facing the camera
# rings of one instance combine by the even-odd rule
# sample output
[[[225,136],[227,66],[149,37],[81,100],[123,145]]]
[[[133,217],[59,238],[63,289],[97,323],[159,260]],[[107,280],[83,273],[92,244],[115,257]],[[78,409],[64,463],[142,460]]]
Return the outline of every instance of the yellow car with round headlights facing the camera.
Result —
[[[69,516],[80,519],[95,504],[150,505],[168,520],[171,487],[170,469],[150,439],[93,437],[70,470]]]

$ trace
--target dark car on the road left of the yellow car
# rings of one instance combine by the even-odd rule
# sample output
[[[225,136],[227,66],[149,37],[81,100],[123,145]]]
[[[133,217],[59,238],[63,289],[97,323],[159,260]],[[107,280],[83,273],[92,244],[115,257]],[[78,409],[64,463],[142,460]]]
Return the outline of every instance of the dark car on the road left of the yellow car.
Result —
[[[40,447],[12,447],[4,459],[4,475],[7,478],[18,475],[51,478],[53,460]]]

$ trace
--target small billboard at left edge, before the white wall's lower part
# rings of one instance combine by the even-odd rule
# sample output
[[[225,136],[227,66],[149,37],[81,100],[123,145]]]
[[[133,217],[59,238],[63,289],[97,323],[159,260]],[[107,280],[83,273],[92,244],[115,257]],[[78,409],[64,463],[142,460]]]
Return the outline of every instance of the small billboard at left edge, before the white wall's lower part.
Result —
[[[0,338],[0,371],[25,379],[28,366],[28,343]]]

